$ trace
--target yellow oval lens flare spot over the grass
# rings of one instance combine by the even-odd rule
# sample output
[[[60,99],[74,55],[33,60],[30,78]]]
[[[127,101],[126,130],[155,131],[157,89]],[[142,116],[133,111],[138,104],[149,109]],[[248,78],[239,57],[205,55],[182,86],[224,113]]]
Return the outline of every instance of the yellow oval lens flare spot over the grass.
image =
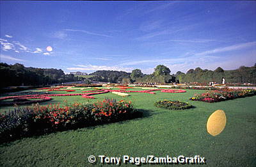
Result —
[[[225,112],[218,109],[212,113],[207,121],[207,132],[212,136],[220,134],[226,126],[227,118]]]

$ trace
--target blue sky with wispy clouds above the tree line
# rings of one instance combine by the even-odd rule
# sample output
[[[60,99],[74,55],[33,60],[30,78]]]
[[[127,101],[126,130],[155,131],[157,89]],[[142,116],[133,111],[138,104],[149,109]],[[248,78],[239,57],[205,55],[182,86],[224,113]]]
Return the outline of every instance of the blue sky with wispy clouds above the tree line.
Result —
[[[0,11],[4,63],[145,74],[256,63],[256,1],[0,1]]]

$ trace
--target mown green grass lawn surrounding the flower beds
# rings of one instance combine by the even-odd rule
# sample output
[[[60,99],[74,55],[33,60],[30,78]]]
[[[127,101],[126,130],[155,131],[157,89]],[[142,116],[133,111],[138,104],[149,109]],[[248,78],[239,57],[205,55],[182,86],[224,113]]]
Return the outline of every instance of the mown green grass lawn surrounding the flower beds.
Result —
[[[53,100],[42,104],[56,102],[63,104],[64,99],[70,103],[93,102],[104,98],[131,100],[134,107],[143,111],[144,118],[24,138],[1,145],[0,166],[100,166],[99,163],[97,165],[88,163],[89,155],[111,157],[200,155],[207,159],[205,166],[255,166],[256,96],[205,103],[189,101],[194,93],[202,93],[205,92],[204,90],[186,91],[186,93],[155,91],[155,95],[129,93],[131,95],[129,97],[106,93],[93,95],[96,99],[90,100],[81,96],[53,97]],[[81,90],[77,90],[70,93],[80,92]],[[154,102],[164,99],[189,102],[195,108],[172,111],[154,106]],[[1,112],[11,108],[3,107]],[[217,109],[225,111],[227,125],[220,135],[213,137],[207,133],[205,127],[207,118]],[[122,164],[122,166],[134,165]]]

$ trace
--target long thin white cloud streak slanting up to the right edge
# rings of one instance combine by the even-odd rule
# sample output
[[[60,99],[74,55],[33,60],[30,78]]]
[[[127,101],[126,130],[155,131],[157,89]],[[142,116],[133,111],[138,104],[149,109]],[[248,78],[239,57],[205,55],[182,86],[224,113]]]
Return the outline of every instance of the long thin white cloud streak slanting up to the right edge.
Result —
[[[230,45],[228,47],[219,47],[210,51],[199,52],[199,53],[196,53],[195,55],[203,56],[203,55],[214,54],[218,52],[236,51],[239,49],[244,49],[246,47],[252,47],[252,46],[256,46],[256,42],[246,42],[242,44]]]

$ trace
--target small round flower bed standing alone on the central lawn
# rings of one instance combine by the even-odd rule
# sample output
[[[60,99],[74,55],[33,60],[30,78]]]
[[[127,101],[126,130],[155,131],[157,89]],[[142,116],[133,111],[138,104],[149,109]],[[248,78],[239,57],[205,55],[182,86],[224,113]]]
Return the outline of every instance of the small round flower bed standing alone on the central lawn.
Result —
[[[180,102],[179,100],[172,101],[172,100],[160,100],[155,102],[154,104],[156,107],[161,107],[165,109],[188,109],[193,106],[188,102]]]

